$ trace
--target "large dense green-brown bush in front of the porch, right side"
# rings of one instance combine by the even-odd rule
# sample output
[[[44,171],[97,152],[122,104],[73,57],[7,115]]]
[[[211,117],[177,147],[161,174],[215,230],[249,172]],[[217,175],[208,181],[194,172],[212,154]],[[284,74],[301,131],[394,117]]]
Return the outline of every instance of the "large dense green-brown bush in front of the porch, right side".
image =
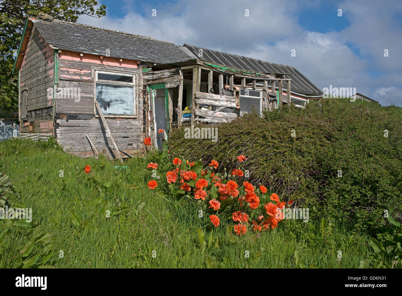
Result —
[[[247,155],[243,169],[250,183],[313,208],[313,220],[325,217],[373,233],[386,228],[384,211],[402,219],[399,107],[323,99],[320,107],[283,106],[213,127],[216,142],[186,139],[185,127],[173,129],[170,154],[216,160],[221,174],[237,167],[236,156]]]

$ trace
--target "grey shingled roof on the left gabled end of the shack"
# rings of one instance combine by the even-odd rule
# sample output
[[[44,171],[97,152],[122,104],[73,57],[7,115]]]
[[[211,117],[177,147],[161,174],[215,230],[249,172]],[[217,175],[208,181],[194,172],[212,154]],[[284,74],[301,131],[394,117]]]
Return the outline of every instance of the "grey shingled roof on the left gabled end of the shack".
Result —
[[[186,61],[191,57],[172,42],[153,37],[101,29],[64,21],[33,20],[43,39],[62,50],[106,55],[156,64]]]

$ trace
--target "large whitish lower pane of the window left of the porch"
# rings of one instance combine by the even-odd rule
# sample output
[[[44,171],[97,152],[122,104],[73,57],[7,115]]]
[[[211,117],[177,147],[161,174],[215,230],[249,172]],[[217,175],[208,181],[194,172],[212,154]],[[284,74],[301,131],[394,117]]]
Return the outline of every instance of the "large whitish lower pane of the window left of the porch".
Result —
[[[103,114],[134,115],[134,88],[96,83],[96,101]]]

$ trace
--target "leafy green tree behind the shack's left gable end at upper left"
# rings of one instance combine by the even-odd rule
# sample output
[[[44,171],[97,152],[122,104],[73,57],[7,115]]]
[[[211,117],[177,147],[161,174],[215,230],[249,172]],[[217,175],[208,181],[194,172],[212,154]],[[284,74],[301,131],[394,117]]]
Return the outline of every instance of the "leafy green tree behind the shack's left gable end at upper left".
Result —
[[[26,16],[44,12],[55,19],[76,22],[78,16],[105,16],[106,6],[95,0],[0,0],[0,114],[18,110],[18,74],[12,74]]]

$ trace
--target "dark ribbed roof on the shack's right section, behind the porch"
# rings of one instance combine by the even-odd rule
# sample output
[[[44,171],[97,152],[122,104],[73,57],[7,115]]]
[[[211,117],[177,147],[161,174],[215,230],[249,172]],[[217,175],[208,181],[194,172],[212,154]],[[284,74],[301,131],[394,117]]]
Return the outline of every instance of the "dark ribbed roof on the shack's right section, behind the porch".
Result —
[[[296,93],[302,93],[307,95],[322,95],[320,88],[315,86],[306,76],[301,74],[295,67],[269,63],[261,60],[256,60],[253,58],[247,58],[244,56],[237,56],[231,53],[220,52],[216,50],[210,50],[194,45],[185,44],[183,45],[190,49],[190,51],[197,56],[200,60],[222,64],[228,67],[238,68],[242,70],[273,73],[273,74],[285,74],[291,78],[291,90]],[[283,88],[286,85],[283,84]]]

